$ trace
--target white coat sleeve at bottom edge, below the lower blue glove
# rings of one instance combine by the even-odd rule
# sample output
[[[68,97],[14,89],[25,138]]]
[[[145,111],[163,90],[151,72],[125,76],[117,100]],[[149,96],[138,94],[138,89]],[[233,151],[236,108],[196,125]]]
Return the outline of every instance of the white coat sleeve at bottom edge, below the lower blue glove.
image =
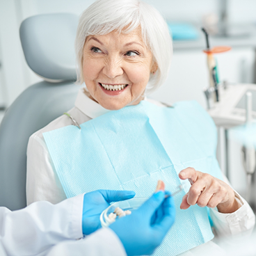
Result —
[[[110,228],[102,228],[85,239],[59,243],[47,256],[127,256],[118,236]]]

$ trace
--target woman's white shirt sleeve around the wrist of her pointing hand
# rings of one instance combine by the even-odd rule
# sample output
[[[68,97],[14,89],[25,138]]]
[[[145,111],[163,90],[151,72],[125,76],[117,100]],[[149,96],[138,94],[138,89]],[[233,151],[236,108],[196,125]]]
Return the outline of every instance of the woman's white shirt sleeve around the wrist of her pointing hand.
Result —
[[[223,181],[230,185],[227,177],[223,175]],[[230,185],[231,186],[231,185]],[[240,205],[232,214],[222,214],[218,209],[210,209],[211,220],[214,223],[216,233],[221,236],[243,235],[253,232],[255,226],[255,214],[248,202],[234,191],[235,199]]]

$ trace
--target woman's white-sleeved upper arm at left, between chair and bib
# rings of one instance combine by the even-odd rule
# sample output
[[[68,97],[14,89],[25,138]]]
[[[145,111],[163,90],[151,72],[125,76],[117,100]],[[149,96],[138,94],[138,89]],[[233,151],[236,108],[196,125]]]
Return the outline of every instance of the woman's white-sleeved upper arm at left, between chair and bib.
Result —
[[[45,141],[35,133],[29,138],[27,149],[27,205],[41,200],[56,204],[66,198]]]

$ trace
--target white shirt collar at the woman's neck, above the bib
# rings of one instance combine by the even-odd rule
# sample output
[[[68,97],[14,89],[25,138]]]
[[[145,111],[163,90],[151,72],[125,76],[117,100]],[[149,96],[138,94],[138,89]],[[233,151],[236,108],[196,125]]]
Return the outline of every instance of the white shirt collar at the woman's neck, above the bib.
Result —
[[[104,115],[110,111],[109,109],[104,109],[104,107],[99,105],[99,103],[85,95],[85,93],[83,93],[83,88],[79,89],[79,93],[74,105],[77,107],[77,109],[92,119],[97,118],[99,115]]]

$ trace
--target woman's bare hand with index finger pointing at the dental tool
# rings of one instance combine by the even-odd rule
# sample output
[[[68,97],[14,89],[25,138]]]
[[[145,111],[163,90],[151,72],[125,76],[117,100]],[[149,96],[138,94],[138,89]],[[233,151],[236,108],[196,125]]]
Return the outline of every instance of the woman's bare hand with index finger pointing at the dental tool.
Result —
[[[195,204],[200,207],[217,207],[223,214],[230,214],[239,209],[233,189],[221,179],[190,167],[182,170],[179,178],[189,179],[192,185],[189,192],[182,198],[180,209],[188,209]]]

